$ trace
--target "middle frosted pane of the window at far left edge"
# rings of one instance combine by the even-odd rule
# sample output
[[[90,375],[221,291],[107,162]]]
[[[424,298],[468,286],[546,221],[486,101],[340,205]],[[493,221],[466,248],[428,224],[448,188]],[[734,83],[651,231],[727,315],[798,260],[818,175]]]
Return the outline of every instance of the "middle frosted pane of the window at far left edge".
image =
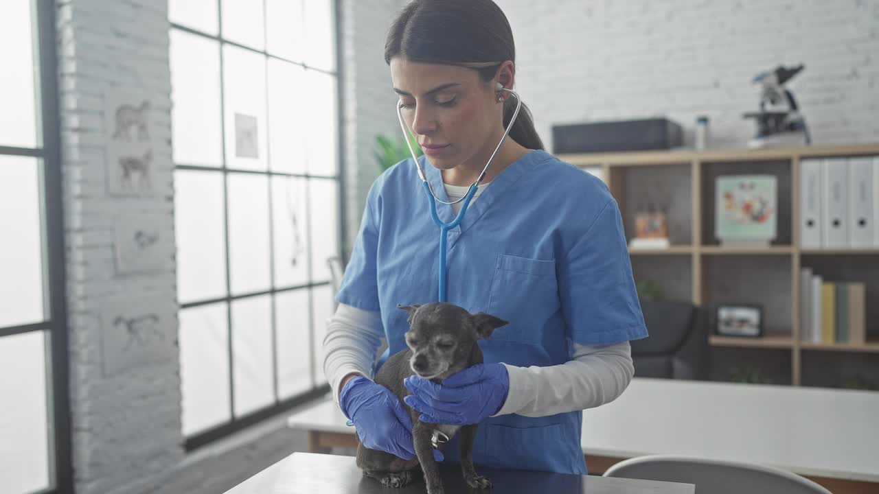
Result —
[[[41,201],[37,159],[0,155],[0,327],[44,320]]]

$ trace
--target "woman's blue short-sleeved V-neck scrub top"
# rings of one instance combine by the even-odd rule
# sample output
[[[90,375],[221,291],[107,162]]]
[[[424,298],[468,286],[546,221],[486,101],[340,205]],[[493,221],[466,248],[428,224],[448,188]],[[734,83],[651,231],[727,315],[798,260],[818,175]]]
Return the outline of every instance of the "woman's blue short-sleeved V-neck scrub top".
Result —
[[[433,191],[448,201],[439,170],[419,158]],[[443,222],[452,207],[437,204]],[[510,323],[479,342],[486,363],[554,366],[571,342],[605,345],[646,338],[621,215],[599,178],[534,150],[498,174],[449,230],[447,301]],[[397,304],[439,300],[439,227],[411,159],[377,178],[337,301],[381,311],[389,353],[406,348],[407,313]],[[582,412],[505,415],[479,425],[474,461],[502,469],[586,474]],[[455,440],[444,448],[456,461]]]

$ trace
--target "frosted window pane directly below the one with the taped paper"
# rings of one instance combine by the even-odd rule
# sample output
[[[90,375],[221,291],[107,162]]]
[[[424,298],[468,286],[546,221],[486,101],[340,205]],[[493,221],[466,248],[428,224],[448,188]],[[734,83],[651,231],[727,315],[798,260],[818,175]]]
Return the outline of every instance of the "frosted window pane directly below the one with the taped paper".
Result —
[[[232,294],[271,288],[269,182],[265,175],[229,173],[229,281]]]

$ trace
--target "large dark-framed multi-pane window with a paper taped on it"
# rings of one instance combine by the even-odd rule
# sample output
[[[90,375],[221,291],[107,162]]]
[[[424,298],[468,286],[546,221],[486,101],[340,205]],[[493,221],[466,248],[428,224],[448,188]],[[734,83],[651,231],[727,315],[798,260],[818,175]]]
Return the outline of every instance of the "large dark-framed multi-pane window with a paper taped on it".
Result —
[[[169,4],[188,448],[326,389],[341,233],[334,4]]]

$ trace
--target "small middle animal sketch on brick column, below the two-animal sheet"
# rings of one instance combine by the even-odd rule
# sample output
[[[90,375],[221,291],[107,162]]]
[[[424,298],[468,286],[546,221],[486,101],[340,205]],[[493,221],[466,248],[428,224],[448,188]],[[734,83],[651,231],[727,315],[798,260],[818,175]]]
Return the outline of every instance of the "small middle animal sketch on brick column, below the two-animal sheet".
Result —
[[[120,274],[155,272],[173,255],[171,239],[165,238],[171,222],[162,214],[125,214],[116,218],[116,269]]]

